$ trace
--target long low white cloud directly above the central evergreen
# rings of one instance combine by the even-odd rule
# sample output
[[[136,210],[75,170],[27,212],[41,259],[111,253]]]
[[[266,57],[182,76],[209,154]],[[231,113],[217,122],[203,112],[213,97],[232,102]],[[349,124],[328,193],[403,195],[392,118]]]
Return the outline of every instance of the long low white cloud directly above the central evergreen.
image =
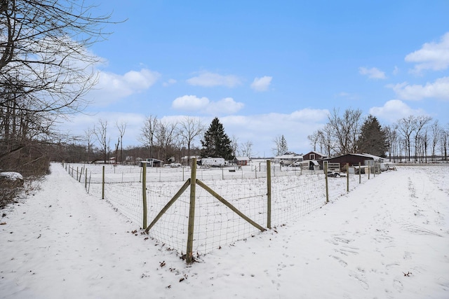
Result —
[[[184,111],[197,111],[200,113],[207,113],[212,115],[232,114],[243,108],[244,104],[235,102],[232,97],[220,99],[220,101],[213,102],[207,97],[196,97],[195,95],[184,95],[177,97],[173,103],[172,108]]]

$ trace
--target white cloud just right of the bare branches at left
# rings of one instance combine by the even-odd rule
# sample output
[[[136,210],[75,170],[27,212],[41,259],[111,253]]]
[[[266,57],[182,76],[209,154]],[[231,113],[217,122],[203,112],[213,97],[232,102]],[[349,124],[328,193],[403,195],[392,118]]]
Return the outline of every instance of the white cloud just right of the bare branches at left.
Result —
[[[93,99],[93,104],[104,106],[147,90],[156,83],[159,76],[158,72],[149,69],[128,71],[124,75],[100,71],[98,84],[89,92],[88,97]]]

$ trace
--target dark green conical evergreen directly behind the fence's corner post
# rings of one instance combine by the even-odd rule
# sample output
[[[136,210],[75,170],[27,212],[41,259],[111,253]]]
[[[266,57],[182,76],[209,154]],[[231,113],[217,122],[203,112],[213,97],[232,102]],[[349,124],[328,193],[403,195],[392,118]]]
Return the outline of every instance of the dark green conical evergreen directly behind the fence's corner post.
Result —
[[[218,118],[214,118],[203,140],[201,140],[203,148],[201,149],[201,157],[220,157],[225,160],[232,160],[231,139],[225,133],[223,125]]]

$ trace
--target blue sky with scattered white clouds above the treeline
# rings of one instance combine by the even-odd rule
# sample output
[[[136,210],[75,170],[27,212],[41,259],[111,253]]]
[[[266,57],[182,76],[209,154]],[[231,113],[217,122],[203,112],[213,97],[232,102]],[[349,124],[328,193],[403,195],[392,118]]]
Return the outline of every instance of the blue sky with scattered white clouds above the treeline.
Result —
[[[428,115],[449,124],[449,1],[123,1],[113,32],[90,50],[102,64],[73,134],[126,122],[123,145],[140,145],[150,114],[164,121],[217,116],[229,137],[272,155],[290,151],[334,108],[361,109],[382,125]],[[199,139],[195,142],[199,145]]]

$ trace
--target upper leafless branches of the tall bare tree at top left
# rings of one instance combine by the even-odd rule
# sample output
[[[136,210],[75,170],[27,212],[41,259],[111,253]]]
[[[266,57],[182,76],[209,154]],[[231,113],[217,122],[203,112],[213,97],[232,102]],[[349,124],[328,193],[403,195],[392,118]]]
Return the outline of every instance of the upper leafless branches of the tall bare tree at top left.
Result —
[[[0,2],[0,84],[13,88],[3,92],[33,99],[20,109],[81,109],[83,95],[96,80],[91,66],[99,62],[87,48],[105,39],[102,27],[110,17],[94,16],[94,9],[76,0]]]

